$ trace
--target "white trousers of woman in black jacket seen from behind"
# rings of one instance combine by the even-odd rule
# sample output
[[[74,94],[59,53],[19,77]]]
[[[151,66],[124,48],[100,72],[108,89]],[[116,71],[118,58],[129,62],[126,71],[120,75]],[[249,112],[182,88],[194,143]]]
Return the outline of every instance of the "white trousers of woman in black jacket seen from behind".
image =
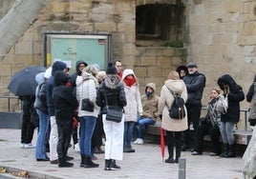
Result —
[[[123,156],[123,130],[124,117],[119,123],[106,120],[106,114],[102,115],[103,129],[105,131],[105,159],[122,160]]]

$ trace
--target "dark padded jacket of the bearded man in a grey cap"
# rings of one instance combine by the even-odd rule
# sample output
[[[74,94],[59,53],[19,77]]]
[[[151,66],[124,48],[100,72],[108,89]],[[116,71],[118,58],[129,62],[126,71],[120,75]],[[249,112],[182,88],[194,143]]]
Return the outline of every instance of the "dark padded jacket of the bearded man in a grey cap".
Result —
[[[202,106],[203,89],[205,87],[205,76],[199,71],[183,77],[187,89],[186,105]]]

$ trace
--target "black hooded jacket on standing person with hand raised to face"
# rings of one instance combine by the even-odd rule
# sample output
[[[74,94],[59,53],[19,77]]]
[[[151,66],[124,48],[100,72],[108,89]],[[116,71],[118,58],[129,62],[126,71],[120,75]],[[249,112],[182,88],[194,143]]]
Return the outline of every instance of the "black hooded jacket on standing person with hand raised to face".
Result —
[[[224,84],[228,85],[229,93],[227,93],[228,109],[222,114],[222,122],[237,123],[240,119],[240,102],[245,99],[245,93],[229,74],[224,74],[218,79],[218,85],[223,90]]]

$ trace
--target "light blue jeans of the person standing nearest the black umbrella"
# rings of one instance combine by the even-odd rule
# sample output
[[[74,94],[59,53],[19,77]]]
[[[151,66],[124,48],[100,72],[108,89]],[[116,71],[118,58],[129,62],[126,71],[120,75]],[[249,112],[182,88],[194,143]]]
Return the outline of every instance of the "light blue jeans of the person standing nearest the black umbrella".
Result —
[[[45,112],[39,109],[36,109],[36,112],[39,116],[39,128],[38,128],[39,132],[37,134],[34,157],[36,159],[45,159],[48,157],[46,154],[45,145],[46,145],[47,131],[49,129],[50,118],[48,114],[46,114]]]

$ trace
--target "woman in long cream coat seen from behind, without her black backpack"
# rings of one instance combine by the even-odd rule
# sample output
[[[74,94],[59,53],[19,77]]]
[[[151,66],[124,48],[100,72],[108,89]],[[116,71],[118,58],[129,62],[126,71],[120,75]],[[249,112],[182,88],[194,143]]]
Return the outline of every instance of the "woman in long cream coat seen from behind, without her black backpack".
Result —
[[[186,102],[187,90],[184,82],[180,79],[179,73],[172,70],[168,79],[164,82],[160,90],[159,111],[161,116],[161,128],[165,129],[167,134],[167,147],[169,157],[165,163],[178,163],[181,157],[181,132],[187,129],[187,117],[183,119],[172,119],[169,116],[169,107],[171,107],[174,97],[169,89],[175,93],[181,94],[181,98]],[[186,112],[186,109],[185,109]],[[174,160],[174,146],[176,143],[176,158]]]

